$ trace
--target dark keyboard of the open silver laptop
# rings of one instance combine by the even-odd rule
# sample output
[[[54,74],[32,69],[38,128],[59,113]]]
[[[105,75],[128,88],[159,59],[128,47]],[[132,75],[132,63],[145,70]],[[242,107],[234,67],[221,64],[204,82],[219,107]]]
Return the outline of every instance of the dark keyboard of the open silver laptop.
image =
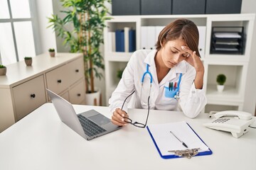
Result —
[[[83,115],[78,115],[78,119],[82,125],[82,129],[85,131],[85,134],[90,137],[107,131],[96,123],[92,122],[92,120],[85,118]]]

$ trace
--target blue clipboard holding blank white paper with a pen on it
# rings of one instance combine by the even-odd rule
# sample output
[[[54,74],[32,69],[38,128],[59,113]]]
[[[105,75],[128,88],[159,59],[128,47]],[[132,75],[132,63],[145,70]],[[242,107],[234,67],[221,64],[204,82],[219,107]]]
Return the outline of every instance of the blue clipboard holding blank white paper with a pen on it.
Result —
[[[197,135],[197,133],[191,128],[191,126],[188,125],[188,123],[186,123],[184,121],[177,122],[177,123],[147,125],[146,129],[148,130],[149,135],[150,135],[151,139],[153,140],[157,151],[160,154],[160,157],[163,158],[163,159],[173,159],[173,158],[181,158],[181,157],[191,158],[193,156],[203,156],[203,155],[213,154],[211,149],[206,145],[205,142],[203,142],[201,137],[199,137]],[[188,142],[187,144],[193,146],[193,148],[189,147],[189,145],[188,145],[188,149],[187,148],[182,149],[183,146],[174,137],[172,137],[172,140],[170,140],[171,133],[168,133],[168,131],[174,130],[174,129],[176,129],[176,131],[181,131],[180,134],[185,134],[185,135],[191,136],[192,138],[188,139],[188,140],[197,140],[198,143],[191,145]],[[164,134],[163,131],[165,131],[167,133]],[[185,133],[183,133],[183,132],[185,132]],[[159,133],[163,133],[162,135],[166,135],[167,136],[166,139],[161,137],[161,134],[159,135]],[[188,134],[188,133],[190,133],[190,134]],[[178,135],[179,135],[179,133],[178,133]],[[163,144],[164,140],[166,140],[166,143]],[[171,142],[173,142],[173,143],[176,142],[177,145],[178,145],[178,142],[179,142],[180,146],[178,146],[178,147],[174,146],[173,149],[171,149],[173,152],[169,152],[167,154],[166,152],[163,151],[163,148],[169,147],[169,146],[166,146],[166,144],[167,145],[172,145]],[[165,145],[165,146],[163,146],[163,145]],[[203,146],[202,147],[203,150],[201,150],[201,149],[199,149],[198,147],[195,147],[195,146],[201,146],[201,147]],[[177,147],[177,148],[175,149],[175,147]]]

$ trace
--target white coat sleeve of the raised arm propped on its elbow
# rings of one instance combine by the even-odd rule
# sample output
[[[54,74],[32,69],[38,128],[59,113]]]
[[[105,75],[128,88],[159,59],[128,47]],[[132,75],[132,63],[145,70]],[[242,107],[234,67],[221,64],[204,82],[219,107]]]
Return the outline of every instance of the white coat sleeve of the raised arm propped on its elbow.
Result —
[[[181,98],[178,104],[188,118],[196,118],[207,103],[205,90],[195,88],[193,83],[195,75],[196,71],[191,68],[188,70],[186,79],[181,82]]]

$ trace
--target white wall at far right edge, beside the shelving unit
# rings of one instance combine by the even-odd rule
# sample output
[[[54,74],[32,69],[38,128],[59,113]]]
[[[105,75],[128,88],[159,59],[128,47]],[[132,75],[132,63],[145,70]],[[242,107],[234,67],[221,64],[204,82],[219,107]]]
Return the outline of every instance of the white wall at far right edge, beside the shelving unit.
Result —
[[[243,0],[241,13],[256,13],[255,0]],[[245,105],[244,111],[255,113],[256,105],[256,20],[253,28],[252,35],[252,50],[250,53],[250,62],[248,66],[247,84],[245,86]]]

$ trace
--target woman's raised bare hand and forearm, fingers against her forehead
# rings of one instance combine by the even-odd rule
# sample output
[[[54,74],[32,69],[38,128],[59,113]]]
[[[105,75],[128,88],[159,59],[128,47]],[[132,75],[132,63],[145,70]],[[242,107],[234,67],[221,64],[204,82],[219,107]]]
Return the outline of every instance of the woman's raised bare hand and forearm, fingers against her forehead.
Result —
[[[196,52],[192,51],[188,46],[181,46],[181,49],[185,52],[188,52],[189,55],[186,58],[186,62],[191,64],[191,66],[193,66],[196,69],[196,77],[194,80],[195,88],[203,89],[203,62],[201,61],[200,57],[196,55]]]

